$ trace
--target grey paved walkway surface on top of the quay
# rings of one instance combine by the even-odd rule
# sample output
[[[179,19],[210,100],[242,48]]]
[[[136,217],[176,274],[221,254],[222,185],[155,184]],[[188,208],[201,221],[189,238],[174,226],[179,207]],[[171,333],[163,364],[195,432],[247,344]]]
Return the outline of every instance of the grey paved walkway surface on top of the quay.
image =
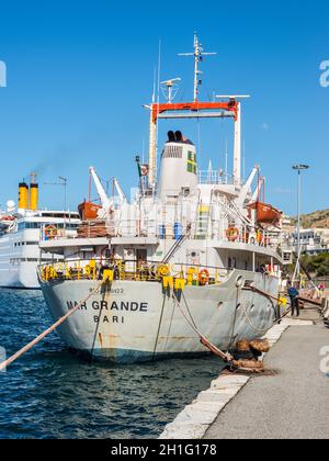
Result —
[[[252,378],[205,438],[328,439],[329,378],[320,371],[324,346],[329,347],[329,330],[322,324],[290,327],[264,360],[276,374]]]

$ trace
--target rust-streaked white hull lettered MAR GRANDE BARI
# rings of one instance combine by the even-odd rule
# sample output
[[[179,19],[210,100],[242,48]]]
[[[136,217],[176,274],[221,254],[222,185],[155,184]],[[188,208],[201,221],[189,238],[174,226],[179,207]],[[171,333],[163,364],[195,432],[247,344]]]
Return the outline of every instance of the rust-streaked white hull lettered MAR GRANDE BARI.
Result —
[[[93,294],[58,333],[70,348],[117,363],[205,353],[195,327],[228,350],[240,339],[262,337],[275,319],[275,302],[237,288],[241,278],[277,296],[277,278],[237,270],[220,285],[186,286],[180,303],[158,282],[115,281]],[[98,283],[42,282],[54,321],[87,299]]]

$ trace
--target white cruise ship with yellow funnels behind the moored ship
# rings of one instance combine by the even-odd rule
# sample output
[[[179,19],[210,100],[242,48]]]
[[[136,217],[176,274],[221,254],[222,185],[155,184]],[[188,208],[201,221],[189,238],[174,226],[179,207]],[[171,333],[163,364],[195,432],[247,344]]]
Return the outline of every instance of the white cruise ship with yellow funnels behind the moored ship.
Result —
[[[80,218],[78,213],[38,211],[38,185],[20,184],[18,209],[9,201],[0,213],[0,286],[39,289],[36,268],[39,262],[60,260],[57,255],[41,255],[41,240],[58,236],[73,237]]]

